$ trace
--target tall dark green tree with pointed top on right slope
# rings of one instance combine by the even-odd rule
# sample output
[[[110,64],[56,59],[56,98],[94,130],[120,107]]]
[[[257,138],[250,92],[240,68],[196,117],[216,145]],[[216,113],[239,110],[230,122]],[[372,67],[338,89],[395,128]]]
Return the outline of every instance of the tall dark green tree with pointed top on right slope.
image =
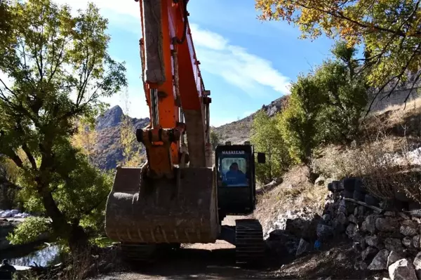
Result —
[[[339,42],[332,50],[335,59],[323,62],[314,73],[320,88],[317,134],[321,144],[349,144],[359,132],[361,112],[367,105],[366,77],[356,74],[360,66],[356,49]]]

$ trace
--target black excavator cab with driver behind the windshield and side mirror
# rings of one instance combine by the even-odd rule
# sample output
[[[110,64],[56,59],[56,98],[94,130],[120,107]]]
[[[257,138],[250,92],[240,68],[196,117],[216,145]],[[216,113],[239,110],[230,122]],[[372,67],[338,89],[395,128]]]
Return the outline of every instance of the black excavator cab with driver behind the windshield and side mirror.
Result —
[[[258,153],[258,164],[265,163],[265,154]],[[226,215],[248,215],[255,209],[255,152],[253,145],[218,145],[215,149],[218,211]]]

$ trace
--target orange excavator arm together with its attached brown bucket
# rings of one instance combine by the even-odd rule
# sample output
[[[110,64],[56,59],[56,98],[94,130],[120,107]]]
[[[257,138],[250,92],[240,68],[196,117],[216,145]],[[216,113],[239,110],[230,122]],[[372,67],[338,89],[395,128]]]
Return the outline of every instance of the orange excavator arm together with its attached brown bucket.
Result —
[[[135,133],[147,161],[117,168],[105,214],[107,236],[119,241],[126,255],[133,248],[139,255],[150,244],[211,243],[220,234],[210,92],[194,51],[187,0],[137,2],[151,123]]]

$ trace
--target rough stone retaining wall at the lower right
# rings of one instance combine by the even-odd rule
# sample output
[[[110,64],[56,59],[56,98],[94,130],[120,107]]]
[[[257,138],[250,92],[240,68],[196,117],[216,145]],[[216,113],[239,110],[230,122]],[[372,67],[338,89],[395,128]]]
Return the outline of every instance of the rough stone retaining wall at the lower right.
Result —
[[[342,196],[326,196],[325,210],[317,225],[321,241],[345,235],[361,252],[355,269],[388,270],[391,279],[421,280],[421,213],[373,210]],[[401,277],[401,278],[399,278]]]

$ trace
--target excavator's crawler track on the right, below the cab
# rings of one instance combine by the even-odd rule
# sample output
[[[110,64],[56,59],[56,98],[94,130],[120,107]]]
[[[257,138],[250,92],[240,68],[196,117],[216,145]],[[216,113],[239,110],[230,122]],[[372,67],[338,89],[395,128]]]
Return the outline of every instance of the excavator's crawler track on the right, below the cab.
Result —
[[[258,220],[236,220],[236,263],[258,265],[265,257],[262,225]]]

